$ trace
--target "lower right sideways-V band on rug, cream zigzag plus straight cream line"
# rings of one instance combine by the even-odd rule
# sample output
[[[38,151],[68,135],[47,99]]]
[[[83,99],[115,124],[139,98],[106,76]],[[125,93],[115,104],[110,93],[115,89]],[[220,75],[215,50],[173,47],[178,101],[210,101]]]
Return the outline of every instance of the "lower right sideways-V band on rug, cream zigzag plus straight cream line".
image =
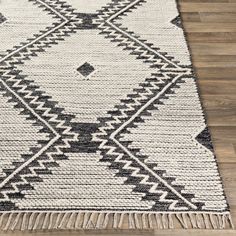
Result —
[[[196,209],[196,206],[194,204],[192,204],[191,202],[189,202],[187,199],[185,199],[180,193],[178,193],[175,189],[173,189],[165,180],[163,180],[163,177],[158,176],[155,172],[153,172],[151,169],[149,169],[149,167],[147,167],[146,164],[144,164],[144,162],[140,161],[138,158],[134,157],[126,148],[125,146],[123,146],[119,140],[116,138],[116,136],[119,134],[119,132],[124,129],[124,127],[129,124],[130,122],[132,122],[135,117],[137,117],[137,114],[139,114],[140,112],[144,111],[144,109],[148,106],[151,105],[151,103],[153,101],[156,101],[158,99],[158,97],[162,94],[165,93],[165,91],[167,91],[167,89],[172,86],[173,84],[175,84],[175,81],[177,81],[180,77],[180,75],[176,75],[176,77],[174,78],[174,80],[168,81],[167,78],[167,74],[168,73],[164,73],[164,75],[162,75],[162,77],[160,79],[158,79],[157,81],[152,81],[153,78],[151,78],[151,82],[146,82],[143,84],[145,90],[142,93],[138,93],[138,96],[135,96],[132,99],[131,103],[125,103],[125,108],[119,109],[120,114],[119,115],[115,115],[113,116],[113,118],[109,121],[105,122],[105,125],[101,128],[99,128],[99,133],[94,134],[94,141],[98,141],[100,142],[99,148],[100,150],[102,150],[103,155],[104,156],[110,156],[108,159],[109,161],[113,162],[113,163],[119,163],[122,164],[123,167],[123,171],[124,170],[129,170],[131,171],[131,176],[136,177],[139,179],[139,183],[142,185],[149,185],[151,186],[151,188],[149,189],[150,193],[154,193],[154,189],[156,187],[158,187],[158,182],[161,184],[164,184],[167,188],[169,188],[169,191],[171,190],[172,192],[174,192],[178,198],[181,198],[185,203],[187,203],[187,205],[189,205],[190,207],[192,207],[193,209]],[[160,76],[160,75],[159,75]],[[163,81],[166,82],[166,86],[164,88],[160,87],[160,85],[163,86]],[[159,93],[157,95],[155,95],[155,93],[159,91]],[[146,102],[144,103],[144,101],[146,100]],[[143,104],[147,104],[146,106]],[[121,104],[124,105],[124,104]],[[130,117],[129,114],[130,112],[132,112],[134,115]],[[124,122],[124,120],[126,120],[126,122]],[[125,126],[124,126],[125,124]],[[112,140],[113,143],[111,144],[111,142],[109,141]],[[116,145],[115,145],[116,144]],[[120,147],[120,150],[123,150],[128,156],[128,159],[124,158],[124,153],[122,151],[117,151],[117,147]],[[107,160],[107,158],[105,158],[105,160]],[[133,164],[133,161],[135,161],[135,163],[138,163],[139,167],[132,167],[131,165]],[[150,178],[149,175],[143,175],[140,174],[140,170],[141,169],[146,169],[149,173],[149,175],[153,176],[157,182],[148,182],[148,179]],[[158,191],[160,190],[155,190],[157,191],[156,193],[160,193]],[[165,192],[162,193],[163,197],[165,196]],[[163,200],[163,197],[162,198]],[[171,201],[168,199],[168,201]],[[178,201],[177,201],[178,202]],[[178,209],[177,206],[175,206],[177,204],[177,202],[175,202],[175,204],[172,202],[172,205],[169,207],[172,207],[173,209]],[[181,210],[186,210],[188,209],[188,207],[184,207],[181,208]]]

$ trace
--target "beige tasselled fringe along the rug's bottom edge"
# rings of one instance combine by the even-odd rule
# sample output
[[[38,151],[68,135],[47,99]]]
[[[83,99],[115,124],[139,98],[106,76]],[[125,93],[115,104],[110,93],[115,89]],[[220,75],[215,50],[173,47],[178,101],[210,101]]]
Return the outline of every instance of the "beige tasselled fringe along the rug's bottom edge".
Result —
[[[229,212],[5,212],[0,229],[225,229],[234,228]]]

